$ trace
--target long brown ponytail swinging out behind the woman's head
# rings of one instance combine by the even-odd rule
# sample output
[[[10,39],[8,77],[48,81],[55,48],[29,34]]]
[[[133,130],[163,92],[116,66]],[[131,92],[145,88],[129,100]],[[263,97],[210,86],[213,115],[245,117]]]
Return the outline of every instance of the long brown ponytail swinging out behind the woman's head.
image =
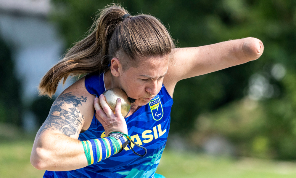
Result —
[[[39,94],[52,97],[59,82],[63,80],[64,85],[69,76],[107,70],[111,36],[121,22],[121,17],[127,13],[116,4],[102,9],[96,16],[89,35],[68,50],[65,57],[41,79]]]

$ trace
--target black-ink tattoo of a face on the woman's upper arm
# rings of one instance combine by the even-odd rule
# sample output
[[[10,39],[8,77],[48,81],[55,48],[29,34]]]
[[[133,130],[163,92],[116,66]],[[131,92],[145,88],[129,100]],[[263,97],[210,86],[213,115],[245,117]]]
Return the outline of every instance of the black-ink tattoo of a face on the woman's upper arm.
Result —
[[[86,97],[77,97],[78,95],[69,93],[62,93],[52,104],[49,115],[38,134],[43,131],[52,129],[59,130],[66,136],[75,135],[78,132],[79,125],[82,125],[84,120],[83,115],[80,115],[77,107],[81,102],[86,102]]]

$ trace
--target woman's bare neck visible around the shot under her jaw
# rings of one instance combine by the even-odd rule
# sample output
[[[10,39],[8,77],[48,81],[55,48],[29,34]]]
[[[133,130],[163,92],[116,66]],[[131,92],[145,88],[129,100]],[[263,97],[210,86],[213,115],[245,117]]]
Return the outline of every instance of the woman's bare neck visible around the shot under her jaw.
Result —
[[[111,88],[121,88],[119,85],[119,77],[113,76],[110,70],[105,72],[104,82],[105,82],[106,90],[109,90]],[[136,111],[140,107],[141,106],[136,105],[135,103],[131,103],[131,112],[130,113],[133,113],[134,111]],[[130,114],[130,113],[128,113],[128,114]]]

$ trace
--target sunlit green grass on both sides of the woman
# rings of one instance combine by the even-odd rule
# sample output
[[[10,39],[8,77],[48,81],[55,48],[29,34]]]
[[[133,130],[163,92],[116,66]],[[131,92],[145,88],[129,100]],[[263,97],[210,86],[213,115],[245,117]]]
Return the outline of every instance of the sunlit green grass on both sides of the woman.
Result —
[[[42,177],[30,164],[32,141],[0,142],[0,178]],[[296,177],[296,163],[254,158],[223,158],[165,150],[158,174],[166,178],[288,178]]]

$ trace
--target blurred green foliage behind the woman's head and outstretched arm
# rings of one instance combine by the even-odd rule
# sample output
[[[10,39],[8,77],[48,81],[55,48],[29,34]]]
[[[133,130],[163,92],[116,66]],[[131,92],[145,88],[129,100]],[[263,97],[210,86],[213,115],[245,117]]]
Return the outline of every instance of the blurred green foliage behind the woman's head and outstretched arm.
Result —
[[[52,2],[55,9],[51,18],[59,25],[67,47],[83,38],[98,9],[112,3]],[[260,39],[265,46],[260,59],[178,82],[170,132],[221,134],[237,145],[239,155],[296,159],[296,1],[118,3],[131,15],[149,13],[159,18],[178,39],[179,47],[249,36]],[[257,98],[247,99],[252,95]],[[208,123],[206,128],[201,126],[203,121]]]

